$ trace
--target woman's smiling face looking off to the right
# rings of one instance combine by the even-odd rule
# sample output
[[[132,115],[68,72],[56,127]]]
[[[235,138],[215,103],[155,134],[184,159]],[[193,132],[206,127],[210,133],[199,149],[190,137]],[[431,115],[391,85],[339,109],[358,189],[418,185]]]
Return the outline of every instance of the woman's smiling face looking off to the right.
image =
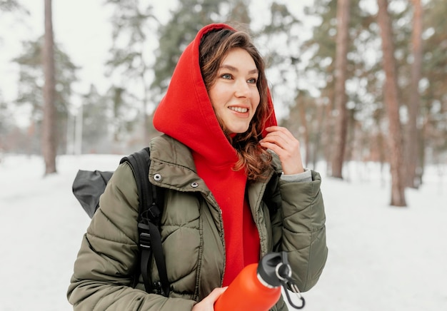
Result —
[[[224,57],[209,98],[222,125],[231,133],[248,130],[259,104],[258,69],[247,51],[234,48]]]

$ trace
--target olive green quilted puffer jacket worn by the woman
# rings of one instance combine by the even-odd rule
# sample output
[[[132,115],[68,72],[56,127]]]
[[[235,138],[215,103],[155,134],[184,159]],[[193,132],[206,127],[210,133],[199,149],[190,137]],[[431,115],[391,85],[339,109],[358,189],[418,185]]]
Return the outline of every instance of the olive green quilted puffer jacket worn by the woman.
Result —
[[[150,148],[149,179],[166,188],[161,239],[170,297],[146,293],[141,277],[139,285],[131,287],[139,259],[139,199],[134,175],[124,163],[101,195],[100,208],[82,240],[67,294],[74,310],[191,310],[221,287],[225,246],[219,206],[196,174],[186,146],[160,136]],[[279,178],[278,158],[274,163],[276,171],[271,171],[268,182],[248,186],[260,255],[286,250],[293,279],[306,291],[316,284],[327,256],[321,179],[312,172],[311,182],[285,182]],[[158,182],[155,174],[161,175]],[[159,280],[156,268],[151,280]],[[287,307],[281,299],[272,310]]]

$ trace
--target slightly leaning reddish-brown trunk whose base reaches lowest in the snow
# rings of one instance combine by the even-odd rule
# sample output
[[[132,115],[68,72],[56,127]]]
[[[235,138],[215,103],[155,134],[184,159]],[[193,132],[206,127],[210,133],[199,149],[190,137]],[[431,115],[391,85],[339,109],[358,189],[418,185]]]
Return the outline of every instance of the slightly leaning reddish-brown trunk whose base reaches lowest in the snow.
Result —
[[[383,97],[388,113],[388,144],[390,148],[391,167],[391,205],[406,206],[405,188],[402,178],[402,133],[399,118],[398,83],[396,59],[391,31],[391,20],[388,15],[388,0],[378,0],[378,24],[381,28],[383,49],[383,70],[385,85]]]

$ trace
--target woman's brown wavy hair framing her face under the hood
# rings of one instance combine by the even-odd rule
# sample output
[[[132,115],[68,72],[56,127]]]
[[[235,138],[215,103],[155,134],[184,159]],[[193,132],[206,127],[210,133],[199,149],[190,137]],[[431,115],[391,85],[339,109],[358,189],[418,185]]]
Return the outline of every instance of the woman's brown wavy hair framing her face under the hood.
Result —
[[[253,58],[256,68],[258,68],[256,86],[260,101],[250,126],[244,133],[238,133],[233,137],[229,136],[219,116],[217,118],[228,141],[238,154],[238,161],[233,169],[244,169],[249,181],[265,180],[267,177],[266,171],[271,166],[271,154],[259,145],[259,141],[262,138],[264,123],[272,111],[268,109],[268,84],[265,64],[250,36],[245,31],[233,31],[231,29],[216,29],[205,34],[199,47],[201,74],[206,89],[209,90],[218,78],[217,75],[222,61],[228,52],[234,48],[247,51]]]

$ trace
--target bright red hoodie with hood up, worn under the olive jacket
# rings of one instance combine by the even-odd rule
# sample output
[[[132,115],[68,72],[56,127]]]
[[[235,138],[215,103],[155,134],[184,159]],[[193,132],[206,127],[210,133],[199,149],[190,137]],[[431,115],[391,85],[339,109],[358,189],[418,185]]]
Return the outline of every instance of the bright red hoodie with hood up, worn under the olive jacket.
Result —
[[[236,151],[219,126],[199,66],[202,36],[225,24],[205,26],[186,47],[174,70],[166,95],[154,114],[154,127],[191,149],[198,175],[213,193],[222,211],[226,250],[223,286],[246,265],[258,262],[259,236],[245,198],[246,174],[232,168]],[[273,111],[271,98],[269,106]],[[272,113],[266,124],[276,125]]]

